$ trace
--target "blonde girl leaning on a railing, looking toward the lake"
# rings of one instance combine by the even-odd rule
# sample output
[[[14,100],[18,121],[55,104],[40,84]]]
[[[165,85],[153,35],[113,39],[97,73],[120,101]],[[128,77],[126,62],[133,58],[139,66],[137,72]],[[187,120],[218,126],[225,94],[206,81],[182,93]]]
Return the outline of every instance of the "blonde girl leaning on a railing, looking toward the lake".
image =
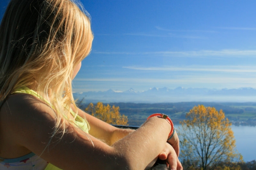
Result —
[[[133,131],[76,107],[71,82],[92,40],[89,14],[71,0],[10,1],[0,25],[1,170],[143,170],[157,158],[182,170],[165,115]]]

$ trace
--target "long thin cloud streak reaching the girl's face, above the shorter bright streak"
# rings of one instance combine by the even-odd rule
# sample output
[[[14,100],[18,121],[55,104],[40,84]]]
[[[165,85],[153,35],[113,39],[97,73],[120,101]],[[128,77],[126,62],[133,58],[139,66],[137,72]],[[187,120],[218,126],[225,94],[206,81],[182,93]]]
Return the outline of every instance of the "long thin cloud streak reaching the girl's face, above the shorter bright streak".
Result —
[[[108,52],[108,51],[92,51],[96,54],[126,54],[126,55],[158,55],[165,57],[256,57],[256,50],[199,50],[199,51],[152,51],[152,52]]]

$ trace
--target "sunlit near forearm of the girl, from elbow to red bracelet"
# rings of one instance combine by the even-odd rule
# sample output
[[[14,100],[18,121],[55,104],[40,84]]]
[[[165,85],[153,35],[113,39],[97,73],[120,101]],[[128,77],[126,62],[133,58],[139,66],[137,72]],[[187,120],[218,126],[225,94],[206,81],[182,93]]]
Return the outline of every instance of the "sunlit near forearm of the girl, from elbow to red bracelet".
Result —
[[[129,168],[145,169],[163,150],[170,130],[171,126],[165,119],[152,117],[112,146],[128,159]],[[137,164],[138,160],[140,164]]]

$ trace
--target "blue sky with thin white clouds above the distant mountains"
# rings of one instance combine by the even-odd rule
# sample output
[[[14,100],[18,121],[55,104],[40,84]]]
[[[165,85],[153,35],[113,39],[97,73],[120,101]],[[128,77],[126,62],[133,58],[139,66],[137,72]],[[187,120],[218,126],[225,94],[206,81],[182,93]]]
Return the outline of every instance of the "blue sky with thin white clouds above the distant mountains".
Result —
[[[82,0],[91,54],[77,92],[256,88],[255,0]]]

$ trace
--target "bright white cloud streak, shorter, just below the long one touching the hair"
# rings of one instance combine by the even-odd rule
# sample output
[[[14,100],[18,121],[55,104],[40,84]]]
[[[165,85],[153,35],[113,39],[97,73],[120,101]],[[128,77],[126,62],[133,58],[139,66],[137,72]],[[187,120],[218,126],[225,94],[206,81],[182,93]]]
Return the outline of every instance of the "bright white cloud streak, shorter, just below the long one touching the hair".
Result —
[[[128,68],[132,70],[144,70],[144,71],[208,71],[208,72],[240,72],[240,73],[254,73],[256,68],[253,66],[186,66],[186,67],[138,67],[138,66],[126,66],[122,68]]]

